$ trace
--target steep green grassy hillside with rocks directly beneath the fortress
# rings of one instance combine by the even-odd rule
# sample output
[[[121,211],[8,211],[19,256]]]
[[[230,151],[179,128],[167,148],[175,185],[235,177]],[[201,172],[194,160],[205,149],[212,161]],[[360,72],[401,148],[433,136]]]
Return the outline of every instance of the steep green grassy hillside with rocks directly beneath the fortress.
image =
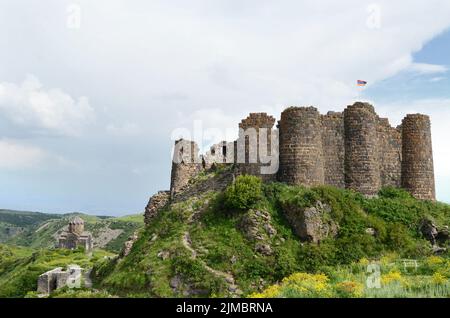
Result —
[[[330,207],[326,221],[337,224],[338,234],[320,244],[302,242],[285,215],[318,201]],[[423,261],[432,255],[419,231],[424,218],[449,225],[450,206],[418,201],[393,188],[369,199],[333,187],[253,180],[225,193],[203,192],[172,203],[145,228],[127,257],[95,265],[95,282],[120,296],[251,295],[294,273],[330,274],[330,268],[344,271],[392,253]],[[448,257],[448,252],[442,255],[444,262]],[[449,274],[440,273],[446,282]]]

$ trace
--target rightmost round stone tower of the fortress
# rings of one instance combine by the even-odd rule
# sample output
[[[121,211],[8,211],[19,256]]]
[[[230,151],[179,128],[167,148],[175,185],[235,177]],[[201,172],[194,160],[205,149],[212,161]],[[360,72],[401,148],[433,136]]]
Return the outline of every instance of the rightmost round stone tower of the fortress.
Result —
[[[430,118],[407,115],[401,127],[402,187],[418,199],[435,200]]]

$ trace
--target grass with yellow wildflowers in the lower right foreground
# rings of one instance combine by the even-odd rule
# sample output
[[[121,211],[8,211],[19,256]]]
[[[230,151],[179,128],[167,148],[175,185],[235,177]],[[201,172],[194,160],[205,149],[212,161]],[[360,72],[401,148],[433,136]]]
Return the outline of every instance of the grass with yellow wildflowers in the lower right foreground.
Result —
[[[378,284],[371,284],[376,277],[367,271],[369,264],[376,264],[380,269]],[[449,270],[448,257],[423,258],[417,268],[405,268],[401,259],[390,255],[324,268],[319,274],[295,273],[251,297],[448,298]]]

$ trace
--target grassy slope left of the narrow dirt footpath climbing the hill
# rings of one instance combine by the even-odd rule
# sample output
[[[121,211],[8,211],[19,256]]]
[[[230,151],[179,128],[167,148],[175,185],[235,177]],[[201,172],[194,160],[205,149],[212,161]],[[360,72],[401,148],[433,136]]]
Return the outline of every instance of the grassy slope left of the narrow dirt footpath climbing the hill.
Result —
[[[186,288],[205,290],[206,287],[220,286],[220,282],[205,271],[198,261],[190,258],[181,243],[187,219],[196,204],[198,200],[188,200],[172,206],[170,210],[161,211],[141,233],[128,257],[97,264],[94,275],[99,288],[127,297],[183,296],[181,292],[174,292],[169,285],[171,278],[176,275],[184,278]],[[156,239],[152,240],[154,237]],[[170,257],[162,259],[158,256],[160,252],[167,252]],[[206,292],[212,295],[214,291],[208,289]]]

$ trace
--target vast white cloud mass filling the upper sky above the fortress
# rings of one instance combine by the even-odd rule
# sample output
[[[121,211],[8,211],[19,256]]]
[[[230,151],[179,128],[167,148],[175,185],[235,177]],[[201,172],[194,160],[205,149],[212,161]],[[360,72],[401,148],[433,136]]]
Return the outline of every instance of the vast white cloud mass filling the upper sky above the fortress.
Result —
[[[367,26],[373,4],[380,9],[379,28]],[[26,17],[33,23],[17,18],[9,23],[25,21],[21,28],[36,41],[58,48],[39,47],[31,57],[49,55],[61,69],[79,70],[66,76],[78,74],[78,82],[88,83],[91,94],[105,101],[99,107],[108,107],[111,122],[120,118],[145,127],[152,117],[155,129],[172,124],[168,105],[186,114],[291,104],[340,109],[358,98],[357,79],[371,85],[408,69],[442,72],[443,66],[415,63],[412,56],[450,26],[448,0],[155,0],[126,6],[80,0],[79,5],[83,21],[76,31],[58,24],[64,10],[56,5],[30,5]],[[155,100],[172,95],[183,99]],[[140,99],[127,104],[133,98]],[[110,130],[120,129],[113,126]]]

